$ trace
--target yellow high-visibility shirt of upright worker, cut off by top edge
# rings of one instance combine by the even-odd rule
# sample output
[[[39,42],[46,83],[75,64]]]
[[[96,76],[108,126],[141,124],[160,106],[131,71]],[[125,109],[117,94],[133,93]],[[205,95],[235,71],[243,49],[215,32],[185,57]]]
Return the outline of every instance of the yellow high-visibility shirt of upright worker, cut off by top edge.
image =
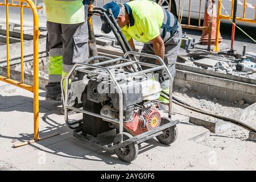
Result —
[[[43,0],[43,6],[49,22],[76,24],[85,21],[82,0]]]

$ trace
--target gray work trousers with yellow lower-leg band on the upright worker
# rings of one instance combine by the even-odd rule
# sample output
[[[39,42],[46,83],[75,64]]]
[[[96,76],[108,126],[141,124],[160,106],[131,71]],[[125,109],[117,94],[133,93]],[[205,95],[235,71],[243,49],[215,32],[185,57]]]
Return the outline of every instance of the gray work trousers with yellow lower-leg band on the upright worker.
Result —
[[[60,82],[73,64],[82,63],[89,57],[88,24],[87,21],[78,24],[47,22],[47,31],[49,82]]]

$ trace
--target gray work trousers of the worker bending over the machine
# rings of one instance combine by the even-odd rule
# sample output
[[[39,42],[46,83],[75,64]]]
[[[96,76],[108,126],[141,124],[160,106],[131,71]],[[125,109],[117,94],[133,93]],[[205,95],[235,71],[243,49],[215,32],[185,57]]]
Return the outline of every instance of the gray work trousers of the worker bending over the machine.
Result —
[[[170,39],[167,39],[164,42],[165,52],[164,52],[163,61],[166,64],[173,78],[175,76],[175,63],[177,61],[177,53],[179,52],[181,38],[182,38],[182,28],[179,25],[175,34]],[[155,55],[153,44],[144,44],[141,52]],[[141,62],[155,64],[155,59],[150,59],[144,56],[141,56],[139,60]],[[169,80],[161,83],[161,86],[163,89],[168,88],[168,85],[169,85]]]

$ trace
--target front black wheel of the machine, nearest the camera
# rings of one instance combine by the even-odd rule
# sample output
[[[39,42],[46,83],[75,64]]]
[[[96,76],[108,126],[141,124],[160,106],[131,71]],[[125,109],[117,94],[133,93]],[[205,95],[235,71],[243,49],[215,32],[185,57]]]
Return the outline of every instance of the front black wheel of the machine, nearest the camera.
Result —
[[[129,133],[123,132],[123,141],[133,138],[133,136]],[[114,144],[119,143],[119,135],[115,136]],[[135,160],[139,154],[138,144],[130,143],[127,146],[115,149],[115,154],[117,154],[118,158],[125,162],[132,162]]]

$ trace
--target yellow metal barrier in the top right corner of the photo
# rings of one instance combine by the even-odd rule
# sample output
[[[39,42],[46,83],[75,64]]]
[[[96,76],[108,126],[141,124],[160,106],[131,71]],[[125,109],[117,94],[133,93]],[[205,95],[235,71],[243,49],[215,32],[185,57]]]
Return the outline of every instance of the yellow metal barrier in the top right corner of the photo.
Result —
[[[225,0],[227,1],[227,0]],[[220,35],[220,21],[221,19],[233,19],[233,7],[234,7],[234,0],[232,0],[232,11],[231,11],[231,15],[222,15],[221,14],[221,6],[222,5],[222,0],[218,0],[218,15],[217,15],[217,30],[216,30],[216,42],[215,42],[215,47],[214,47],[214,51],[220,51],[220,49],[218,48],[218,39],[219,39],[219,35]],[[256,23],[256,8],[255,8],[255,18],[254,19],[248,19],[245,18],[245,10],[246,10],[246,0],[243,1],[243,15],[242,18],[241,17],[236,17],[237,21],[240,22],[247,22],[247,23]]]

